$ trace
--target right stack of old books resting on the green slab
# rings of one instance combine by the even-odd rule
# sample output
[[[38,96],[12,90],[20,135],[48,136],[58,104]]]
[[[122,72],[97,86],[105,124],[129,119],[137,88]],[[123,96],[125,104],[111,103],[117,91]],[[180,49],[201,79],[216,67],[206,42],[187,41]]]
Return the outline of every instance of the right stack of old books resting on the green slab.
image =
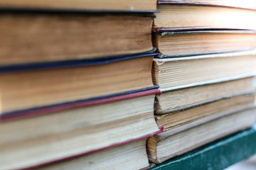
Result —
[[[151,162],[255,123],[256,11],[234,3],[158,1],[152,77],[163,93],[154,114],[164,132],[149,137]]]

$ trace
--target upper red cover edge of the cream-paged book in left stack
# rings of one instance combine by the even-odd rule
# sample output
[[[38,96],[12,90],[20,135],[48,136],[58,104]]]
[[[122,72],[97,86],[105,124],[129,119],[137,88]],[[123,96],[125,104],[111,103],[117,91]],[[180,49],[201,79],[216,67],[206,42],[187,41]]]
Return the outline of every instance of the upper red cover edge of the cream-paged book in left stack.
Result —
[[[96,105],[105,104],[105,103],[112,103],[112,102],[115,102],[115,101],[123,101],[123,100],[127,100],[127,99],[130,99],[130,98],[148,96],[148,95],[151,95],[151,94],[161,95],[161,91],[159,89],[151,89],[151,90],[146,90],[146,91],[139,91],[139,92],[132,93],[132,94],[124,94],[124,95],[120,95],[120,96],[113,96],[113,97],[110,97],[110,98],[101,98],[101,99],[95,99],[95,100],[92,100],[92,101],[70,103],[70,104],[67,104],[67,105],[53,106],[53,107],[49,107],[49,108],[39,108],[39,109],[36,109],[36,110],[26,111],[22,114],[10,115],[10,116],[5,117],[5,118],[0,118],[0,123],[1,122],[6,122],[6,121],[11,121],[11,120],[16,120],[16,119],[21,119],[21,118],[30,118],[30,117],[38,116],[38,115],[46,115],[46,114],[49,114],[49,113],[65,111],[65,110],[68,110],[68,109],[81,108],[81,107],[87,107],[87,106],[96,106]]]

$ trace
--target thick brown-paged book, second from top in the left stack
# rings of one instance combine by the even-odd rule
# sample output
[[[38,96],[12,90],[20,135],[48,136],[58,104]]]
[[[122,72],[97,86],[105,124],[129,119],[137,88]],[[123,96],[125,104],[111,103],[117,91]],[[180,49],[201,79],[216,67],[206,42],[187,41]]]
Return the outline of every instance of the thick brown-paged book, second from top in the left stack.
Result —
[[[3,12],[0,65],[120,57],[153,50],[152,13]]]

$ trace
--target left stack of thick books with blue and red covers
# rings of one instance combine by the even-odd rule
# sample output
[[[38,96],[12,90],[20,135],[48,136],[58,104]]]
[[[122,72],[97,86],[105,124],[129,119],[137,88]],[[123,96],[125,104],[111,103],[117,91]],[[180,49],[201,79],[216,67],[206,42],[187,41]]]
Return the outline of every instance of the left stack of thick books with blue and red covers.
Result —
[[[156,1],[0,6],[1,169],[149,168]]]

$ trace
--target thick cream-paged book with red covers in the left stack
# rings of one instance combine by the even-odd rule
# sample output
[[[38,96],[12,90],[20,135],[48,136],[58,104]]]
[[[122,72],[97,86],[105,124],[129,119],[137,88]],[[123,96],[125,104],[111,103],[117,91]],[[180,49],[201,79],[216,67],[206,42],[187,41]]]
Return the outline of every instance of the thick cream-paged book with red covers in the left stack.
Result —
[[[30,118],[6,118],[0,123],[1,168],[32,169],[162,132],[154,120],[159,93],[152,89],[53,108]]]

